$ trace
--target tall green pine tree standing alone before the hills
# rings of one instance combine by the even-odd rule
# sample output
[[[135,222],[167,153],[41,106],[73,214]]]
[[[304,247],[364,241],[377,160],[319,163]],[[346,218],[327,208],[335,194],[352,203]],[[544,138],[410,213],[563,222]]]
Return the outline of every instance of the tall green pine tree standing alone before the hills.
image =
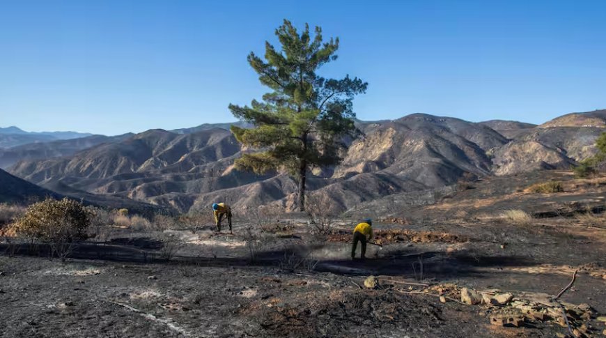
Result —
[[[247,58],[261,84],[272,91],[250,107],[229,105],[232,114],[254,128],[231,127],[236,139],[256,149],[236,160],[236,168],[263,174],[286,169],[299,180],[299,208],[305,208],[305,180],[311,167],[327,167],[342,160],[347,136],[354,125],[352,100],[368,84],[357,77],[325,79],[316,74],[336,60],[339,38],[323,42],[322,29],[314,36],[309,25],[298,33],[288,20],[276,29],[281,51],[265,43],[265,61],[251,52]]]

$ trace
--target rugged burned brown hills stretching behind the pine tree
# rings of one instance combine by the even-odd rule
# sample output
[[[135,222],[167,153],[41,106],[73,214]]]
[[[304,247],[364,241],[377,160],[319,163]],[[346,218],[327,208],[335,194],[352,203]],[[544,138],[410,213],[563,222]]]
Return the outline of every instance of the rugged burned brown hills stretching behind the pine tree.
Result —
[[[451,185],[465,173],[568,169],[595,153],[593,143],[606,130],[597,123],[606,121],[605,113],[569,114],[540,126],[427,114],[357,121],[366,135],[351,141],[339,166],[313,169],[309,190],[328,194],[347,210],[390,194]],[[12,174],[83,198],[127,198],[180,211],[218,200],[235,208],[293,206],[292,178],[233,168],[242,149],[227,130],[230,124],[31,144],[0,151],[0,165],[13,162]]]

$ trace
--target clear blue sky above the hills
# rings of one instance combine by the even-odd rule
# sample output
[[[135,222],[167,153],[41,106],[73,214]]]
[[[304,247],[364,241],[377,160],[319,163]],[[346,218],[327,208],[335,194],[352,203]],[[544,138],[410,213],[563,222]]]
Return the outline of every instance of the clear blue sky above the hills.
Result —
[[[606,1],[0,2],[0,126],[116,135],[233,121],[246,56],[288,18],[339,36],[320,72],[369,82],[359,118],[541,123],[606,107]]]

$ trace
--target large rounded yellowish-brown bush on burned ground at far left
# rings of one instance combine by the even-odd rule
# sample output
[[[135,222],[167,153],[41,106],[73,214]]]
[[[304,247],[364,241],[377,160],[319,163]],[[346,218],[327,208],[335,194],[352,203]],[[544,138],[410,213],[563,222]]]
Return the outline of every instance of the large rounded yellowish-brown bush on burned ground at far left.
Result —
[[[74,243],[86,239],[90,225],[91,213],[81,203],[68,198],[46,199],[27,208],[25,215],[15,222],[15,232],[50,243],[53,253],[65,261]]]

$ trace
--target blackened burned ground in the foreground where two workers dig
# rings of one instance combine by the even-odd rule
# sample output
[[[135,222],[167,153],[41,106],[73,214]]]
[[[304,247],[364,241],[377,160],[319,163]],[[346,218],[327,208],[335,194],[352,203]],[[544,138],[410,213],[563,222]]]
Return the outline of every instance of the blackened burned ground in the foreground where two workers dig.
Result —
[[[354,219],[318,234],[300,217],[263,227],[236,218],[233,235],[163,231],[174,242],[113,228],[65,263],[5,240],[0,337],[600,337],[606,217],[532,213],[603,187],[568,180],[569,191],[532,205],[537,194],[524,191],[534,183],[497,183],[507,191],[494,202],[472,197],[490,189],[476,183],[485,185],[414,210],[438,215],[476,199],[473,215],[379,222],[382,247],[369,245],[363,261],[350,259]],[[529,220],[499,216],[505,199]],[[179,243],[170,259],[167,243]]]

